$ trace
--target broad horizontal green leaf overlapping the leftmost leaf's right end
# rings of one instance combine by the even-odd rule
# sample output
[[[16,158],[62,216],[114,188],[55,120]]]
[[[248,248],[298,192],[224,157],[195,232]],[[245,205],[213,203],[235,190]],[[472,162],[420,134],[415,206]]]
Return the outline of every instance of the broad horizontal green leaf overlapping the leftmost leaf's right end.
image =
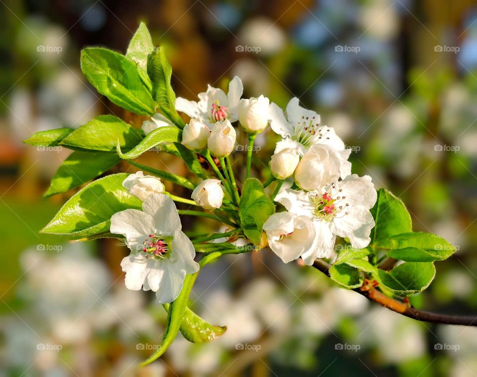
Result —
[[[100,115],[68,135],[61,145],[94,151],[131,149],[143,138],[129,124],[114,115]]]

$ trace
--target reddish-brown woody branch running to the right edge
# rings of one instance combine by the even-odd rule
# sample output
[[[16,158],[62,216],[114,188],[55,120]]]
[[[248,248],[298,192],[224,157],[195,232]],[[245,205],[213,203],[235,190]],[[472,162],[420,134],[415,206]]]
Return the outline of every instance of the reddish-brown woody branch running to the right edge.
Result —
[[[322,259],[317,259],[313,264],[317,270],[329,277],[329,264]],[[363,285],[353,291],[366,297],[368,300],[377,302],[390,310],[406,317],[423,322],[445,323],[449,325],[477,326],[477,317],[462,317],[457,315],[444,315],[430,311],[418,310],[407,306],[404,302],[394,300],[375,288],[374,284]]]

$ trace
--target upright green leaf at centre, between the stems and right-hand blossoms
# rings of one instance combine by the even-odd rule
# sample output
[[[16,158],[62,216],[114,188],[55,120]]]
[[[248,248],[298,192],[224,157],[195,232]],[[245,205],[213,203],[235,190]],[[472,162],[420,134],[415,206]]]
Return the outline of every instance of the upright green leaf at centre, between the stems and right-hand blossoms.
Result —
[[[262,226],[275,213],[275,205],[256,178],[248,178],[242,189],[239,218],[243,233],[255,245],[260,244]]]

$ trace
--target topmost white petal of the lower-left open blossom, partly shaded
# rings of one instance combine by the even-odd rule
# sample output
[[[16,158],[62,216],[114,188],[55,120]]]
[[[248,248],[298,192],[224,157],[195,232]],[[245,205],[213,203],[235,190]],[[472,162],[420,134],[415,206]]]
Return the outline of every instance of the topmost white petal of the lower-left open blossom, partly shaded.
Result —
[[[182,228],[174,201],[165,194],[151,194],[143,202],[143,211],[152,216],[156,231],[172,235]]]

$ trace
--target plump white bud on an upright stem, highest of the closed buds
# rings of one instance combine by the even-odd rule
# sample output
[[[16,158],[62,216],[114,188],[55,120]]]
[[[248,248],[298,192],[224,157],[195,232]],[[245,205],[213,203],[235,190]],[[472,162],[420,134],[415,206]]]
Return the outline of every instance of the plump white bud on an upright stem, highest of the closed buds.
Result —
[[[268,124],[268,105],[270,101],[261,95],[258,98],[242,98],[239,102],[239,121],[249,134],[262,132]]]

